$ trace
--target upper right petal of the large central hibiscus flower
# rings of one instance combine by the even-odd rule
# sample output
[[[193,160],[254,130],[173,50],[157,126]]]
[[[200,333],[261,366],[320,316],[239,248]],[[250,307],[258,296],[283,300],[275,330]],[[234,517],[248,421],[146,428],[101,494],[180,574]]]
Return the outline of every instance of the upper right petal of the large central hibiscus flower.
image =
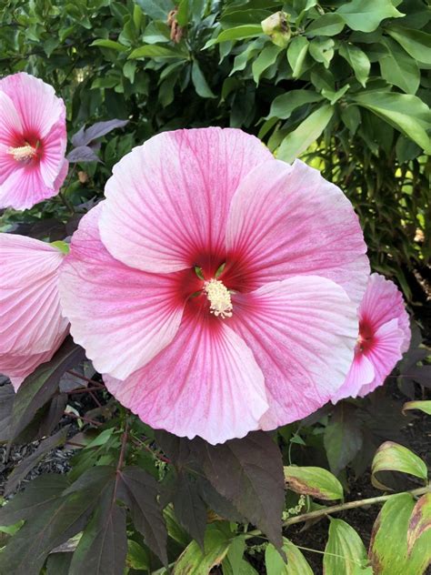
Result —
[[[226,248],[250,287],[298,275],[332,279],[359,303],[369,272],[358,218],[343,192],[296,160],[258,166],[232,200]]]

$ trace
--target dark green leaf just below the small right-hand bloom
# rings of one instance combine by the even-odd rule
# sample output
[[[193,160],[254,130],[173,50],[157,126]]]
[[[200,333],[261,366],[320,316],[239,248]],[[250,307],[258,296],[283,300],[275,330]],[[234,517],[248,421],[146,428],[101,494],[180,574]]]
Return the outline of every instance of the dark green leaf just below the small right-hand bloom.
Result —
[[[357,108],[356,108],[357,109]],[[355,458],[362,448],[362,431],[356,419],[356,409],[339,403],[325,429],[324,445],[331,471],[338,473]]]

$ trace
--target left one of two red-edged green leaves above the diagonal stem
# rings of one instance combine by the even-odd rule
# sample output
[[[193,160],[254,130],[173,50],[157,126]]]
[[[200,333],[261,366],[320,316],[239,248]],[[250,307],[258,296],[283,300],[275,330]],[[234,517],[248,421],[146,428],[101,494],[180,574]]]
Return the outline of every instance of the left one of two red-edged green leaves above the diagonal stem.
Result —
[[[285,467],[286,485],[292,491],[317,499],[342,499],[343,487],[327,469],[316,467]]]

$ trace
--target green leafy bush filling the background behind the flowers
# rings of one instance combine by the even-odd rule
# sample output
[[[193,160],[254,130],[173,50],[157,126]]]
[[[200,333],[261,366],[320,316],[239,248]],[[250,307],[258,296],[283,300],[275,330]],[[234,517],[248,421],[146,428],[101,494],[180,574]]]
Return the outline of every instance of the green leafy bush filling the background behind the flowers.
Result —
[[[3,75],[25,70],[54,85],[69,134],[130,120],[105,138],[97,170],[77,166],[85,174],[72,179],[70,202],[102,194],[115,162],[157,132],[241,127],[286,161],[305,156],[346,191],[373,267],[411,298],[406,274],[431,255],[426,2],[181,0],[169,22],[171,0],[3,5]],[[266,35],[260,23],[278,11],[278,29]],[[48,202],[25,219],[61,209]],[[17,219],[9,212],[3,228]]]

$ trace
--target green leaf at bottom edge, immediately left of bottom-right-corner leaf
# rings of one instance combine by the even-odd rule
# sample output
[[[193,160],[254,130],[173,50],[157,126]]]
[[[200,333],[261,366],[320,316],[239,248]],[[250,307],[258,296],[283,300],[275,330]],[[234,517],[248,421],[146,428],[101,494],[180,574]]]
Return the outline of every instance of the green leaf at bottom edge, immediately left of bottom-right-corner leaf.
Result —
[[[366,548],[356,530],[346,521],[330,518],[329,539],[324,555],[324,575],[358,575],[366,565]]]

